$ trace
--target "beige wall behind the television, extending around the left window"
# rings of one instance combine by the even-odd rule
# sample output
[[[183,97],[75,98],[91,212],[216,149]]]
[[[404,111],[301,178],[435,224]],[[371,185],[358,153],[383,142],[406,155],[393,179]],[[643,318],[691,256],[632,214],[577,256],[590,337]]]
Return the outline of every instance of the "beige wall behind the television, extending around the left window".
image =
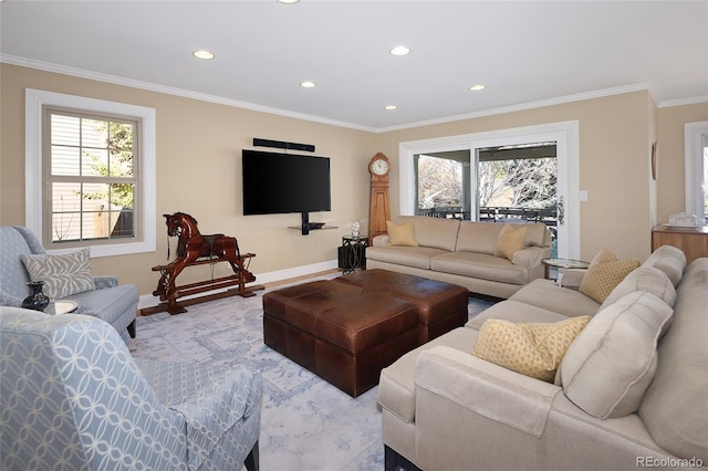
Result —
[[[156,286],[158,274],[150,269],[168,261],[164,213],[188,212],[202,233],[237,237],[242,252],[256,253],[250,270],[257,276],[335,260],[351,222],[368,218],[367,165],[376,151],[371,133],[2,64],[2,224],[24,224],[24,88],[156,109],[157,251],[91,261],[94,274],[117,274],[138,284],[140,294]],[[332,211],[312,213],[311,220],[339,229],[303,237],[288,229],[300,224],[300,214],[242,216],[241,149],[252,148],[253,137],[313,144],[316,155],[331,157]],[[174,239],[171,245],[174,258]],[[215,275],[227,272],[220,263]],[[208,266],[190,268],[179,284],[210,275]]]

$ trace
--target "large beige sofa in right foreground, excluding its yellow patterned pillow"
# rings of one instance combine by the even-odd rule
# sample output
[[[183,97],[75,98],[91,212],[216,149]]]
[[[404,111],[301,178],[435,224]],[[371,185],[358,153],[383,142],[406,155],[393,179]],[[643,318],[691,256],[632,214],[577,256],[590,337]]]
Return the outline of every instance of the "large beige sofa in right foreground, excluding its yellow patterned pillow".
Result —
[[[603,304],[533,281],[400,357],[378,388],[386,469],[706,469],[708,259],[685,260],[660,248]],[[487,320],[582,315],[552,383],[470,354]]]

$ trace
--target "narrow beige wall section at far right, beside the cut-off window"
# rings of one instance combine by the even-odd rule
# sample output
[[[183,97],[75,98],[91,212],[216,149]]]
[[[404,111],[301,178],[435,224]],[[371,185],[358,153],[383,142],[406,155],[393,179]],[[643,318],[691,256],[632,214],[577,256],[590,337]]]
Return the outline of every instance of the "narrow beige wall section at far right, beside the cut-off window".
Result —
[[[708,121],[708,104],[671,106],[657,113],[658,157],[658,220],[666,222],[668,214],[686,210],[684,125]]]

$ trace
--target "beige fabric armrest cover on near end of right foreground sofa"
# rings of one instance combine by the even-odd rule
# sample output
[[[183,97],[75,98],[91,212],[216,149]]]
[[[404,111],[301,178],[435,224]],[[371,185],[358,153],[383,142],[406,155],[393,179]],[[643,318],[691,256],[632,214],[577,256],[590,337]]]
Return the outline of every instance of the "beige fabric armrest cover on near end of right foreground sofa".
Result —
[[[541,437],[559,386],[447,346],[421,352],[416,390],[425,389],[488,419]],[[427,407],[416,394],[416,410]]]

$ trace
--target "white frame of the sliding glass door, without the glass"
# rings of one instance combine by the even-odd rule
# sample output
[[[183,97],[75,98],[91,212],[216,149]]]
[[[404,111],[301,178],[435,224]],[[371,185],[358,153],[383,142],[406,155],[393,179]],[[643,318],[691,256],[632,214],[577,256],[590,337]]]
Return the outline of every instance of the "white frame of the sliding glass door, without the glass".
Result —
[[[399,212],[403,216],[415,213],[415,175],[413,158],[417,154],[442,153],[469,149],[475,157],[470,166],[472,213],[478,212],[477,195],[477,155],[478,149],[507,145],[521,145],[541,142],[556,143],[559,201],[563,201],[564,223],[558,224],[558,257],[580,258],[580,123],[569,121],[538,126],[524,126],[492,132],[447,136],[431,139],[412,140],[398,145],[399,171]],[[573,197],[571,197],[573,196]]]

